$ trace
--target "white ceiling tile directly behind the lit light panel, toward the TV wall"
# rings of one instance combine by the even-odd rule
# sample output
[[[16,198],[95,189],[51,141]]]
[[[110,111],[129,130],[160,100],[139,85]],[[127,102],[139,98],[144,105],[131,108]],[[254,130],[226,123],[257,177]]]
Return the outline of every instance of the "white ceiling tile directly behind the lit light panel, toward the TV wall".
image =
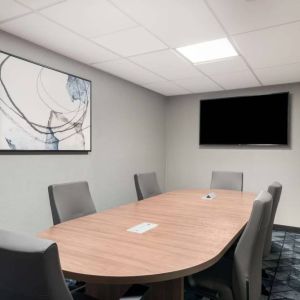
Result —
[[[248,69],[246,63],[240,56],[228,58],[225,60],[198,64],[196,65],[196,67],[209,76],[215,74],[244,71]]]

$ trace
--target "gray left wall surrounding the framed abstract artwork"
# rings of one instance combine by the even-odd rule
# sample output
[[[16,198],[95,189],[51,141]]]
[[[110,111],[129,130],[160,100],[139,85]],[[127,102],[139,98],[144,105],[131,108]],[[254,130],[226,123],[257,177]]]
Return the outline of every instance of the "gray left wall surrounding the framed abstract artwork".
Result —
[[[0,153],[0,228],[38,232],[52,225],[52,183],[88,180],[98,210],[136,200],[135,172],[156,171],[164,187],[163,96],[1,31],[0,50],[93,82],[91,153]]]

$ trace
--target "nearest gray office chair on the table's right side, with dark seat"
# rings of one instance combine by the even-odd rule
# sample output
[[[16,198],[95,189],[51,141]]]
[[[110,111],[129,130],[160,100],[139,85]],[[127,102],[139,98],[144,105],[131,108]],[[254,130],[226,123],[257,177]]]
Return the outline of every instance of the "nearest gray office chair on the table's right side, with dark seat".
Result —
[[[189,277],[196,294],[203,296],[210,291],[213,299],[260,299],[262,257],[271,210],[271,194],[261,192],[254,201],[233,259],[223,258],[211,268]]]

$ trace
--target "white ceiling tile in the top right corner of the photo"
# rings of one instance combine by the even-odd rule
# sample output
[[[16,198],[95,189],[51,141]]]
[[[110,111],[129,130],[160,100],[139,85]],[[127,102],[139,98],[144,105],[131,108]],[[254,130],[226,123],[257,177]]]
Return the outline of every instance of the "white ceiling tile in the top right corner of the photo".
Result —
[[[300,20],[298,0],[209,0],[208,3],[230,34]]]

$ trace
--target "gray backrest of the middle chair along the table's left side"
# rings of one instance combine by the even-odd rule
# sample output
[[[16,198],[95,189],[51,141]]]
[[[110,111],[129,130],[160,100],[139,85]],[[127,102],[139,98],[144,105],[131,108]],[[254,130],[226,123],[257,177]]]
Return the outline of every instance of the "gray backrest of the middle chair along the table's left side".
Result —
[[[86,181],[50,185],[48,192],[54,225],[96,212]]]

